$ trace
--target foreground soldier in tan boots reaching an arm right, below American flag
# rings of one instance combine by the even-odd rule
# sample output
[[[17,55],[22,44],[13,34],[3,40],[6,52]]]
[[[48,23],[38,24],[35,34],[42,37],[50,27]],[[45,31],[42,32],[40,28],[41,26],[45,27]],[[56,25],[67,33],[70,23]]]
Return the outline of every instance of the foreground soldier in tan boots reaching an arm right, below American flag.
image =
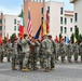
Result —
[[[27,38],[27,35],[24,35],[24,39],[22,40],[23,52],[25,53],[25,57],[23,59],[23,71],[29,71],[29,55],[30,55],[30,45],[35,45],[31,41]]]

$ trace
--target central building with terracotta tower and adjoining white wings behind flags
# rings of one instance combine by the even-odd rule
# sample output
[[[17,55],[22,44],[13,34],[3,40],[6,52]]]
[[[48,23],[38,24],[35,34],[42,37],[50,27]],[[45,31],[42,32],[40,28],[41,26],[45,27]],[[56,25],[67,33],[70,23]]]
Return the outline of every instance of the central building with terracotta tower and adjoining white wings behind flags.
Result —
[[[59,37],[62,33],[63,38],[68,37],[70,39],[71,33],[73,32],[73,12],[65,11],[65,3],[57,1],[47,1],[44,0],[24,0],[24,15],[25,15],[25,25],[27,28],[28,22],[28,9],[30,8],[31,23],[32,23],[32,33],[36,35],[41,21],[45,18],[46,11],[50,12],[50,35],[53,39]],[[27,33],[27,29],[25,29]]]

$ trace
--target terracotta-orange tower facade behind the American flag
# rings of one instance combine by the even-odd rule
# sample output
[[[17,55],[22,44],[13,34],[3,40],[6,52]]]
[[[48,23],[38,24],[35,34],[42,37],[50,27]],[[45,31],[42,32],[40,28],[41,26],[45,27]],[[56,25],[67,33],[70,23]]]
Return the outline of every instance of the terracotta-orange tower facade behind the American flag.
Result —
[[[28,33],[28,11],[30,11],[32,36],[35,36],[41,25],[44,11],[43,6],[44,0],[24,0],[25,33]]]

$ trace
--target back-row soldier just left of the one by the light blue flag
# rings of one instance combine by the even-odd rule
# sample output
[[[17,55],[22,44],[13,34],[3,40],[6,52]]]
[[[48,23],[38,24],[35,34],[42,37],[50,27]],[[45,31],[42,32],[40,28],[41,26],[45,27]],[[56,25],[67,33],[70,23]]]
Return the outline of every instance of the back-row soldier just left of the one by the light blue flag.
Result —
[[[64,62],[65,60],[65,53],[66,53],[66,44],[65,44],[64,39],[63,39],[63,41],[59,44],[59,54],[62,56],[62,63],[65,63]]]

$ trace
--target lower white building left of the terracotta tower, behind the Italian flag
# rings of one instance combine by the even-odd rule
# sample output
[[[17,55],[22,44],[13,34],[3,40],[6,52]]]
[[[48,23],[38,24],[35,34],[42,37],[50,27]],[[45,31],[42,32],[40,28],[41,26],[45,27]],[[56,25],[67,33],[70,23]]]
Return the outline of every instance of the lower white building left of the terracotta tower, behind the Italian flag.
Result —
[[[3,25],[2,25],[2,38],[9,35],[9,38],[12,33],[16,33],[18,36],[18,27],[19,27],[20,18],[17,15],[3,15]]]

